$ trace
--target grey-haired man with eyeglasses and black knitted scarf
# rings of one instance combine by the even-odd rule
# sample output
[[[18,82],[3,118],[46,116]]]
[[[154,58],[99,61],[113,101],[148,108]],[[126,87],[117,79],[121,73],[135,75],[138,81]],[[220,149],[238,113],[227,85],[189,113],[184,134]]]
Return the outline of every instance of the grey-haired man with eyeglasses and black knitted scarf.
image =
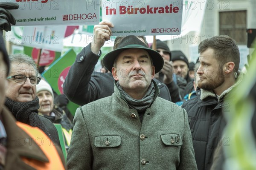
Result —
[[[55,126],[45,117],[38,115],[36,85],[41,78],[38,77],[34,60],[25,54],[10,55],[9,59],[11,67],[7,77],[9,84],[6,88],[5,105],[18,121],[40,128],[54,144],[60,145]]]

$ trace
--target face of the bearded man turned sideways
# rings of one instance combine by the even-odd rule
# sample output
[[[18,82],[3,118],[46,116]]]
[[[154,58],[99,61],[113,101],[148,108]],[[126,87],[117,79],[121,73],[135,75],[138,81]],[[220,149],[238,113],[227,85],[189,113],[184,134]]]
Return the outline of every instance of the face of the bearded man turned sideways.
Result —
[[[200,77],[198,81],[199,88],[214,90],[224,83],[224,73],[214,57],[212,48],[200,53],[199,62],[200,66],[197,71]]]

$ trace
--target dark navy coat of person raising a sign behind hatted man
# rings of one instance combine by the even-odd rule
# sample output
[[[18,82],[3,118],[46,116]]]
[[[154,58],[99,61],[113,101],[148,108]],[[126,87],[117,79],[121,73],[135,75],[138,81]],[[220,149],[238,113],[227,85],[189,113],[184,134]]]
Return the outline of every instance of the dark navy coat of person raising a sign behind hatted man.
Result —
[[[94,71],[99,55],[94,54],[90,44],[76,56],[64,82],[63,91],[67,98],[78,104],[85,105],[114,92],[114,79],[111,73]],[[159,97],[171,101],[169,90],[165,84],[154,79],[160,89]]]

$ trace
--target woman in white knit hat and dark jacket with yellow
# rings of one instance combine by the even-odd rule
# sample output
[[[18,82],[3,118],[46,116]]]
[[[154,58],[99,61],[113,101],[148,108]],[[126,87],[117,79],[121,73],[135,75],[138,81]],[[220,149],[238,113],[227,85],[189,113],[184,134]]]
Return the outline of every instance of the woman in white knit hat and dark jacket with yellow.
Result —
[[[58,105],[54,104],[54,94],[52,87],[44,79],[41,79],[39,84],[36,86],[37,96],[39,98],[40,108],[38,114],[46,117],[52,123],[59,123],[62,126],[62,131],[65,136],[66,149],[68,149],[73,130],[73,125],[70,119],[68,119],[66,113],[58,108]]]

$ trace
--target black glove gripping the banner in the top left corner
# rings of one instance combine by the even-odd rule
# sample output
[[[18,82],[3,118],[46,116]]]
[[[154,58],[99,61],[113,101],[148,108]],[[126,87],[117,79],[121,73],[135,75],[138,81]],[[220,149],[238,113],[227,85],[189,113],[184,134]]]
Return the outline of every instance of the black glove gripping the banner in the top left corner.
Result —
[[[0,29],[11,31],[11,24],[15,25],[16,20],[7,9],[17,9],[19,5],[11,2],[0,2]]]

